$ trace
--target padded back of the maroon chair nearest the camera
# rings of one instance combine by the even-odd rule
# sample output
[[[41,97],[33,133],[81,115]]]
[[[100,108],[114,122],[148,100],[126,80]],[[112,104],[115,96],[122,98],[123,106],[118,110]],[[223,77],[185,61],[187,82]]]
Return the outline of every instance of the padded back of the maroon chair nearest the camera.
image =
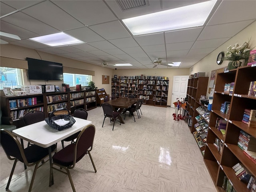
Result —
[[[95,126],[90,124],[86,126],[78,135],[74,152],[74,164],[81,160],[83,156],[87,154],[87,151],[91,151],[93,147],[95,135]]]

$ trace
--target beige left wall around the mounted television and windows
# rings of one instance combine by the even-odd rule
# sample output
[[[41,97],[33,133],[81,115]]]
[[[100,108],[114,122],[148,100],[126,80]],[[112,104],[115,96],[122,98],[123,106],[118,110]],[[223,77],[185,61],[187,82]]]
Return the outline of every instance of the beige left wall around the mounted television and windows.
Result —
[[[26,60],[26,57],[35,58],[35,59],[42,58],[42,60],[62,63],[63,66],[66,66],[66,67],[95,71],[95,76],[92,76],[92,81],[95,82],[96,87],[104,88],[107,94],[110,94],[111,92],[111,78],[112,76],[114,76],[112,69],[103,68],[102,66],[96,66],[96,65],[80,62],[77,60],[72,60],[69,58],[48,54],[45,52],[40,52],[40,51],[36,52],[35,50],[12,45],[12,44],[1,44],[0,48],[1,48],[0,55],[3,57],[16,58],[16,59],[22,59],[22,60]],[[39,55],[41,56],[41,58]],[[110,84],[102,84],[102,75],[110,76]],[[26,75],[26,70],[24,70],[25,85],[54,84],[61,87],[62,83],[63,81],[60,81],[60,80],[58,81],[49,80],[48,82],[45,82],[44,80],[28,80],[28,77]]]

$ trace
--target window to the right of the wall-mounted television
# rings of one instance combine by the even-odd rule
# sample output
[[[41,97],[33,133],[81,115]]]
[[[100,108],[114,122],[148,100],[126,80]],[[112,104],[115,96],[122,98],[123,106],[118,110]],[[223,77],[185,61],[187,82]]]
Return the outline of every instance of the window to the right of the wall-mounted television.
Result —
[[[88,86],[88,83],[91,80],[91,75],[63,73],[63,81],[65,84],[69,84],[69,86],[76,86],[77,84],[81,84],[81,86]]]

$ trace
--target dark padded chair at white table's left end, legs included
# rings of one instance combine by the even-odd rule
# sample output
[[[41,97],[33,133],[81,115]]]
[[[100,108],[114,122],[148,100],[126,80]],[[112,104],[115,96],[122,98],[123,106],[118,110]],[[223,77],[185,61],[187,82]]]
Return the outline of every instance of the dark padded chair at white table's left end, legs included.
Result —
[[[30,145],[27,148],[23,149],[22,145],[20,144],[16,136],[14,136],[14,134],[12,134],[10,131],[4,130],[4,129],[0,130],[0,142],[8,159],[14,160],[14,164],[12,166],[12,170],[9,176],[6,190],[9,189],[10,182],[12,180],[12,175],[16,167],[16,163],[20,161],[24,163],[26,166],[35,165],[29,190],[28,190],[28,192],[30,192],[32,190],[34,178],[36,176],[36,170],[40,166],[42,166],[45,162],[48,161],[48,160],[44,161],[45,158],[49,157],[48,148],[42,148],[37,145]],[[56,149],[56,145],[54,144],[51,146],[52,152],[55,149]],[[39,165],[40,162],[43,162],[43,163]]]

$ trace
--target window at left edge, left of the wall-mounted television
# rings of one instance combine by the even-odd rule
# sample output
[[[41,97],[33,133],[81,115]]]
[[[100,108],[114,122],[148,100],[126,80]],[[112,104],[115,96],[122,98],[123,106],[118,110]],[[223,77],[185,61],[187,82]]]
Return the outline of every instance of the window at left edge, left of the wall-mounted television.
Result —
[[[3,87],[21,88],[23,84],[22,69],[0,67],[0,89]]]

